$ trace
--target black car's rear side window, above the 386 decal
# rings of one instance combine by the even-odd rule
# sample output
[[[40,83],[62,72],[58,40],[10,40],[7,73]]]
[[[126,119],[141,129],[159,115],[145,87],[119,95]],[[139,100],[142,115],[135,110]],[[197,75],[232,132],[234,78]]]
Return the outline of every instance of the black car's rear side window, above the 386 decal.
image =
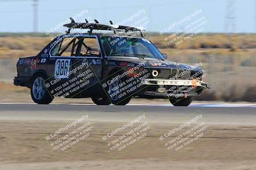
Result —
[[[75,56],[78,46],[77,38],[65,38],[51,50],[52,56]]]

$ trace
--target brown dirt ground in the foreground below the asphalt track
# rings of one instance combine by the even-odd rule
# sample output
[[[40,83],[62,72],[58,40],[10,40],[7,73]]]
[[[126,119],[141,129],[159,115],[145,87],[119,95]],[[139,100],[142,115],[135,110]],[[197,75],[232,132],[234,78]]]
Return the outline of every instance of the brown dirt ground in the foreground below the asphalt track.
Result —
[[[148,122],[145,138],[118,151],[108,144],[129,129],[106,141],[102,137],[125,123],[90,123],[90,136],[62,151],[51,146],[54,138],[45,138],[68,122],[1,120],[0,169],[256,169],[256,126],[207,125],[201,138],[170,151],[159,136],[177,125]]]

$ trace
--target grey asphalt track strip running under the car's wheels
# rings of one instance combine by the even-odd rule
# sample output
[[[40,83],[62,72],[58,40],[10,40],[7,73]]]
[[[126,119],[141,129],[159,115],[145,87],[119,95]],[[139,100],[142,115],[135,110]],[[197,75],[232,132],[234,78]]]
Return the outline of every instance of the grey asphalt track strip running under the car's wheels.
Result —
[[[127,106],[0,104],[0,120],[70,121],[87,114],[88,120],[95,122],[129,122],[145,114],[147,122],[182,123],[202,114],[202,120],[207,124],[256,125],[256,107],[253,104],[170,106],[170,104],[129,104]]]

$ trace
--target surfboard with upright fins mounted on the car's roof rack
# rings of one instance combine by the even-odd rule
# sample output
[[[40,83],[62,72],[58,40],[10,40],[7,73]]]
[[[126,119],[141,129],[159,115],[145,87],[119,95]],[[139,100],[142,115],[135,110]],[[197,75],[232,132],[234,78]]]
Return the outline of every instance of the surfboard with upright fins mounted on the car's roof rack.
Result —
[[[141,36],[143,35],[142,31],[145,31],[144,29],[141,29],[139,27],[131,27],[131,26],[125,26],[125,25],[114,25],[111,20],[109,20],[110,24],[99,24],[97,20],[94,20],[95,23],[89,23],[88,20],[85,19],[85,22],[75,22],[73,18],[70,17],[71,22],[69,24],[64,24],[64,27],[68,27],[68,30],[66,31],[67,34],[70,33],[71,29],[89,29],[88,33],[92,34],[93,30],[97,31],[113,31],[116,33],[116,31],[140,31]]]

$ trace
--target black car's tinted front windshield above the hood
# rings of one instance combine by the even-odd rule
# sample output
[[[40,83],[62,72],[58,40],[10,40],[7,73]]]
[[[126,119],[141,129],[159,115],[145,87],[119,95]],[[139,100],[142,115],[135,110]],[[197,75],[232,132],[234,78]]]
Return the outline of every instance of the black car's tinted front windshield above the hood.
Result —
[[[100,38],[106,56],[124,56],[164,60],[163,55],[148,39],[102,36]]]

